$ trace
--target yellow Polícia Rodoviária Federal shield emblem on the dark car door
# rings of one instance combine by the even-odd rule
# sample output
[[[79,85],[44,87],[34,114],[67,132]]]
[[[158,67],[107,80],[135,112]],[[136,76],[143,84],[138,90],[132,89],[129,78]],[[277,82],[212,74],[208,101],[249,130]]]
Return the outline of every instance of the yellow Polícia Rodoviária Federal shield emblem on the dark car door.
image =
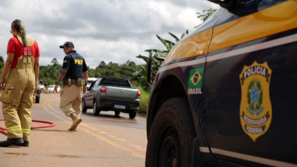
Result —
[[[241,82],[240,122],[247,135],[255,142],[269,129],[272,108],[269,85],[272,70],[267,62],[244,66],[239,75]]]

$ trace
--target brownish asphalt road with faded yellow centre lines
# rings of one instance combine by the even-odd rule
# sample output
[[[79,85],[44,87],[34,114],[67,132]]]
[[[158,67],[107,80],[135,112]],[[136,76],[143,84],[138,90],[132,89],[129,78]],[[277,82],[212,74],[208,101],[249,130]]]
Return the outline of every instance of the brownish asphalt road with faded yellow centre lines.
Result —
[[[135,166],[145,164],[146,118],[92,109],[82,113],[76,132],[67,131],[72,120],[60,110],[58,93],[41,94],[33,104],[32,119],[56,123],[54,127],[31,130],[29,147],[0,147],[0,166]],[[1,106],[2,111],[2,106]],[[0,118],[3,118],[2,112]],[[32,126],[42,125],[32,122]],[[4,121],[0,126],[5,127]],[[0,141],[7,136],[0,133]]]

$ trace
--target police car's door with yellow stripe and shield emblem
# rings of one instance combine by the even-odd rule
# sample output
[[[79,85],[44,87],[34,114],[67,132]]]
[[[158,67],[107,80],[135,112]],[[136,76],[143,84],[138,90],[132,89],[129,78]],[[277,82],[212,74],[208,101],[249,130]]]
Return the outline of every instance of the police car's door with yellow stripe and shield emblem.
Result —
[[[273,5],[262,1],[257,4],[259,12],[243,17],[226,10],[214,27],[203,81],[204,128],[211,152],[222,160],[251,166],[297,163],[297,136],[290,128],[297,126],[293,106],[297,93],[297,7],[294,1],[270,2]],[[244,87],[244,69],[249,67],[250,71],[256,69],[255,75],[250,75],[255,81],[249,83],[253,86]],[[257,73],[260,67],[262,72],[266,67],[266,83],[257,81],[262,74]],[[259,90],[255,106],[265,110],[250,113],[252,116],[241,113],[241,105],[252,99],[249,87]],[[259,105],[260,99],[270,102],[271,109]],[[263,119],[249,119],[256,114]]]

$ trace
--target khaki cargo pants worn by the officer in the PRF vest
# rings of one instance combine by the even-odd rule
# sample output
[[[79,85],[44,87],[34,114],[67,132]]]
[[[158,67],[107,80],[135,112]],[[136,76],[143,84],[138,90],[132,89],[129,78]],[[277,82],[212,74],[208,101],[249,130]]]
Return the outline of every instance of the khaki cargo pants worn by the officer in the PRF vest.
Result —
[[[81,94],[83,86],[71,85],[64,86],[60,92],[60,108],[66,116],[75,113],[77,116],[81,113]]]

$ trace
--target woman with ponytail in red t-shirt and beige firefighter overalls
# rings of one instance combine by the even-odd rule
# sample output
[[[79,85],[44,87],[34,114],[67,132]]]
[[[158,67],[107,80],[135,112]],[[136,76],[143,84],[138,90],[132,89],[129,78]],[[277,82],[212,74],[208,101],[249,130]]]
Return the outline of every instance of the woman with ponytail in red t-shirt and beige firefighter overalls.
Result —
[[[37,42],[26,36],[22,21],[14,20],[10,33],[13,37],[8,41],[7,59],[0,78],[0,88],[4,89],[0,101],[7,140],[0,141],[0,146],[29,146],[31,107],[34,90],[37,91],[40,52]]]

